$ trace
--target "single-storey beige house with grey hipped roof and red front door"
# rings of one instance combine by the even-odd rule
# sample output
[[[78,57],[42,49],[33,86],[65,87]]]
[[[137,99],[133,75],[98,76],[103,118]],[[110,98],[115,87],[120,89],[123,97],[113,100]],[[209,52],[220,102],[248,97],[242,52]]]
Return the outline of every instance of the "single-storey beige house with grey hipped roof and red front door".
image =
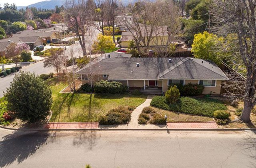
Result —
[[[90,68],[91,66],[91,68]],[[91,70],[91,71],[90,71]],[[78,70],[82,83],[119,81],[129,88],[166,92],[170,84],[201,84],[203,94],[220,94],[227,76],[214,62],[198,58],[105,58]]]

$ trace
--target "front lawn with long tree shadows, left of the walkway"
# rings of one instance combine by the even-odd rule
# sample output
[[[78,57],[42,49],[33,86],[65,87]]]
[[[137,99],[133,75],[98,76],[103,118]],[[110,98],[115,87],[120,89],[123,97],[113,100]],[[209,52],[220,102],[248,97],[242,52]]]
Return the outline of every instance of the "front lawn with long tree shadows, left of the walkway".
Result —
[[[146,95],[59,93],[67,84],[48,80],[52,88],[51,122],[96,122],[118,106],[139,106]]]

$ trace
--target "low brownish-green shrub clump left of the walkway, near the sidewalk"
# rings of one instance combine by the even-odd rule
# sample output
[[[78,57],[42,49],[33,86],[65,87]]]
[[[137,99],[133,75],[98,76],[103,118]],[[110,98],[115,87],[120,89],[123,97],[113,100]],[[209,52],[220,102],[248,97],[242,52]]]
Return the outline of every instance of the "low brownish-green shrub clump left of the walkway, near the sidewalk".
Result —
[[[126,124],[131,120],[131,112],[128,108],[118,107],[110,110],[106,116],[100,116],[99,123],[106,125]]]

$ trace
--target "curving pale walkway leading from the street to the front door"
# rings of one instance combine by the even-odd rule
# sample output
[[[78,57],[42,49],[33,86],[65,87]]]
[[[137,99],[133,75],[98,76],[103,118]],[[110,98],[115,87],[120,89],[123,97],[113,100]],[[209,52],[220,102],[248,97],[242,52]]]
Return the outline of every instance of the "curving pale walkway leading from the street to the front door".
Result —
[[[155,95],[148,95],[146,101],[138,106],[131,114],[132,119],[128,124],[128,128],[138,128],[138,118],[144,107],[150,106],[150,102]]]

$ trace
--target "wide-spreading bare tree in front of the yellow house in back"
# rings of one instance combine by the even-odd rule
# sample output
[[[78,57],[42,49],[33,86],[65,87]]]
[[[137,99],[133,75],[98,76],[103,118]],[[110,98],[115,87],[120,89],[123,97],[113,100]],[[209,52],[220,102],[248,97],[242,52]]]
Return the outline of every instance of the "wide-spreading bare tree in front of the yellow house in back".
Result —
[[[147,48],[154,46],[160,56],[170,54],[170,44],[178,40],[180,33],[178,6],[172,0],[140,0],[129,4],[128,12],[133,22],[125,16],[124,24],[132,34],[138,51],[143,55]]]

